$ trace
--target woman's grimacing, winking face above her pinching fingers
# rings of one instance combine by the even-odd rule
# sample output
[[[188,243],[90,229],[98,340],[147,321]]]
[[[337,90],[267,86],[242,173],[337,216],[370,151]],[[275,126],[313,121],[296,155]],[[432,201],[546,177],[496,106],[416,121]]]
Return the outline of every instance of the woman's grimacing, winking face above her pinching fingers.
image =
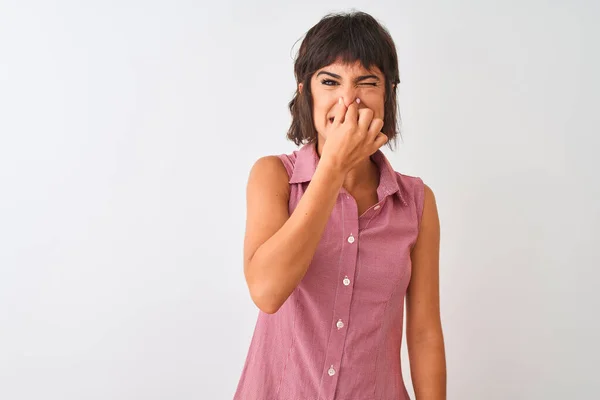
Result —
[[[377,67],[369,71],[359,61],[353,65],[336,62],[315,72],[310,84],[313,97],[313,121],[319,139],[327,139],[334,106],[340,97],[346,106],[359,98],[359,109],[370,108],[373,110],[373,118],[383,119],[385,78]]]

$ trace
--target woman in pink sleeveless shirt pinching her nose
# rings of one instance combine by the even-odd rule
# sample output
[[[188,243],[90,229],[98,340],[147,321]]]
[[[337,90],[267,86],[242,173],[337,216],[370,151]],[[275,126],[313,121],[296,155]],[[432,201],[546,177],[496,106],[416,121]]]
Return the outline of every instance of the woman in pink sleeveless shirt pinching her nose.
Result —
[[[288,138],[247,187],[244,275],[260,309],[235,400],[445,399],[439,221],[420,178],[379,149],[397,135],[392,38],[362,12],[324,17],[294,66]]]

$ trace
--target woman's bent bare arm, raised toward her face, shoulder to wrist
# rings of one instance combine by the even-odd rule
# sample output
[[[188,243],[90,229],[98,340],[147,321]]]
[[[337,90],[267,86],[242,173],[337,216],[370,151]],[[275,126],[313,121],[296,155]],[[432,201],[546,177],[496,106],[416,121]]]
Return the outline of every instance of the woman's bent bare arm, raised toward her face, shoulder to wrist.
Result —
[[[252,301],[273,314],[300,283],[317,250],[345,173],[321,159],[289,215],[289,177],[277,156],[259,159],[247,186],[244,275]]]

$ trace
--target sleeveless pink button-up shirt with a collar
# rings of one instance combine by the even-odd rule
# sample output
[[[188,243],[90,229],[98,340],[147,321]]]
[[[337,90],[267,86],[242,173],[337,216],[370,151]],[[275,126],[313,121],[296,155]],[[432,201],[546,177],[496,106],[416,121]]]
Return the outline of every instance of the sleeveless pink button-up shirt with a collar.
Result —
[[[279,156],[290,213],[319,161],[314,144]],[[234,400],[405,400],[400,346],[423,181],[385,155],[379,201],[361,216],[341,189],[310,267],[275,314],[259,311]]]

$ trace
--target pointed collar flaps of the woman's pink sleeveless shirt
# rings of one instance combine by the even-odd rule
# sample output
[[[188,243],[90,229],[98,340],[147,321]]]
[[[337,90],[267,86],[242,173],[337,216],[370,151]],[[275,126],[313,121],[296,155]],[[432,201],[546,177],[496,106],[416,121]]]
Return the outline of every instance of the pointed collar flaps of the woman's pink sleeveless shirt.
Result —
[[[404,204],[406,199],[403,196],[402,189],[396,178],[396,171],[391,166],[387,157],[381,150],[377,150],[371,159],[379,167],[379,186],[377,187],[377,196],[383,199],[386,196],[397,193]],[[309,182],[317,169],[319,163],[319,155],[316,150],[316,143],[307,143],[297,151],[294,170],[289,183]],[[341,189],[345,192],[345,189]]]

